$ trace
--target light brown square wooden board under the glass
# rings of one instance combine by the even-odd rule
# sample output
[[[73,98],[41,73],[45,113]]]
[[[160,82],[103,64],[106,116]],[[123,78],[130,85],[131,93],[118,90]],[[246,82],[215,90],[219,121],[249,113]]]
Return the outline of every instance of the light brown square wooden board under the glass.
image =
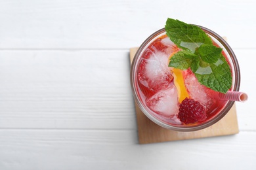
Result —
[[[133,61],[137,50],[138,48],[130,49],[131,62]],[[173,131],[158,126],[158,124],[155,124],[148,117],[145,116],[145,114],[140,110],[136,101],[135,110],[137,114],[137,127],[140,144],[161,143],[166,141],[215,137],[221,135],[232,135],[239,132],[235,105],[233,105],[233,107],[226,114],[226,116],[224,116],[224,118],[222,118],[213,126],[192,132]]]

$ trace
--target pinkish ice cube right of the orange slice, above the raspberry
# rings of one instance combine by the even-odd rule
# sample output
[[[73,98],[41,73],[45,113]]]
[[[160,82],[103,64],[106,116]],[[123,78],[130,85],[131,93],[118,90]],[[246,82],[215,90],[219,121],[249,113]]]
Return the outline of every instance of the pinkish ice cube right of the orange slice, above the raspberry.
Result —
[[[213,90],[203,86],[198,82],[196,76],[189,72],[185,77],[185,86],[190,94],[190,97],[205,107],[205,109],[210,109],[215,100],[211,97],[211,93]]]

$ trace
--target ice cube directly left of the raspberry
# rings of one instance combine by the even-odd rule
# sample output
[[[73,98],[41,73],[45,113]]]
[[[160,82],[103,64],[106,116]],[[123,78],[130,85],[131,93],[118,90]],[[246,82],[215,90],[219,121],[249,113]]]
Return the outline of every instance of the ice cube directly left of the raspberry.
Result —
[[[165,90],[152,95],[146,99],[146,105],[152,111],[169,118],[179,112],[179,101],[177,89],[174,84]]]

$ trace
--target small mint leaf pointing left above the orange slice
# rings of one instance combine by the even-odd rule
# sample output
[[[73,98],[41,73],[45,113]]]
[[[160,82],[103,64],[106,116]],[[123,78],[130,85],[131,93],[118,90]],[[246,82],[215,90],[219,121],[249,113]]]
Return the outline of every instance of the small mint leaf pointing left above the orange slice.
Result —
[[[169,67],[175,67],[177,69],[186,70],[189,67],[196,67],[195,65],[199,65],[198,56],[192,54],[188,50],[182,50],[175,53],[171,57],[171,61],[169,63]]]

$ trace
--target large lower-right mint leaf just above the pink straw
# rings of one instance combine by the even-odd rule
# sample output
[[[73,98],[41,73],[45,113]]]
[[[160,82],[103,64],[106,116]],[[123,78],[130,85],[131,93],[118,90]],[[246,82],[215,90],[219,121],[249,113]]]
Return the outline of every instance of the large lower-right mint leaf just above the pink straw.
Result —
[[[232,75],[223,55],[207,67],[199,67],[195,72],[198,81],[217,92],[226,93],[232,86]]]

